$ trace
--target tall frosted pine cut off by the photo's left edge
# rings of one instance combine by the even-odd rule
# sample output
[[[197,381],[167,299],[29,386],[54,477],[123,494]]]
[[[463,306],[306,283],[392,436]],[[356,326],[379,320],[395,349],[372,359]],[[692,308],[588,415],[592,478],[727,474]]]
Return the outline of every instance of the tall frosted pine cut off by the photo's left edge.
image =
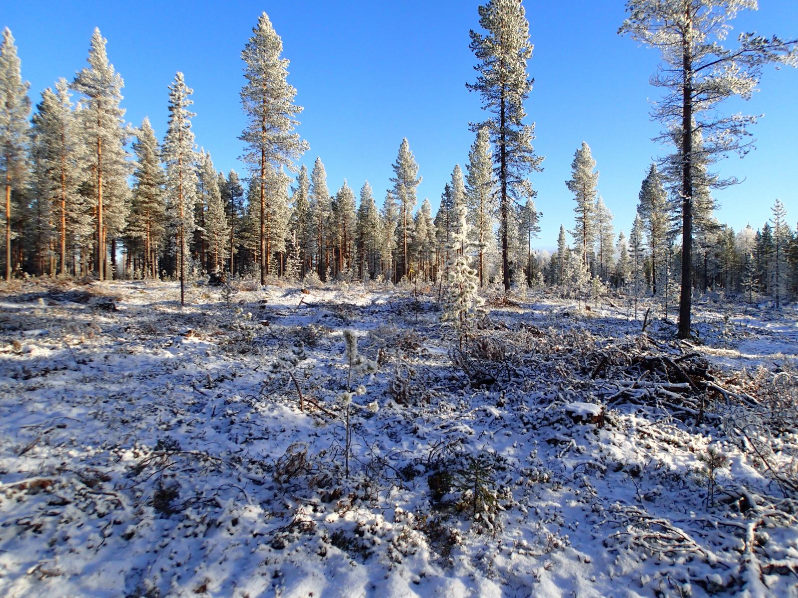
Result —
[[[28,114],[30,83],[22,81],[14,36],[6,27],[0,43],[0,177],[6,191],[6,281],[11,280],[11,191],[21,192],[29,165]]]

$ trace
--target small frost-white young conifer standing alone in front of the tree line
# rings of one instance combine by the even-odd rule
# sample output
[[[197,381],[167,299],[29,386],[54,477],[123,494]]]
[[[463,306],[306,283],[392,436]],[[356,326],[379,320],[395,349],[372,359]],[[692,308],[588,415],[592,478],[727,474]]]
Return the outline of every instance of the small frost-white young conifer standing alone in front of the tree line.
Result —
[[[471,243],[468,240],[468,210],[464,198],[452,207],[452,232],[448,244],[447,287],[441,321],[452,322],[457,330],[460,351],[468,342],[470,321],[476,311],[484,305],[480,297],[480,279],[469,262]]]

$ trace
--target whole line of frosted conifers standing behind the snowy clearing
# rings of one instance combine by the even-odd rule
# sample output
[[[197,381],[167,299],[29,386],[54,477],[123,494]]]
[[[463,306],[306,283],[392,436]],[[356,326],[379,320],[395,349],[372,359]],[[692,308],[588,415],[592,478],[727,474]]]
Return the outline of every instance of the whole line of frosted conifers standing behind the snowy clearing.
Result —
[[[393,186],[381,205],[365,183],[331,193],[322,160],[298,166],[309,145],[296,132],[302,107],[287,81],[282,40],[262,14],[242,52],[247,177],[216,171],[196,147],[192,89],[182,73],[169,86],[168,128],[159,143],[147,119],[124,121],[123,81],[95,30],[88,66],[41,93],[30,117],[29,85],[8,29],[0,45],[0,175],[5,184],[6,279],[48,276],[179,277],[215,272],[300,279],[376,279],[436,284],[473,268],[477,284],[556,285],[569,292],[614,287],[676,302],[679,336],[690,333],[693,293],[796,293],[798,241],[776,202],[759,230],[733,231],[714,216],[712,190],[733,184],[712,166],[750,148],[752,116],[726,116],[722,102],[748,99],[764,65],[796,65],[798,43],[742,33],[721,42],[752,0],[630,0],[618,33],[658,49],[652,83],[664,89],[653,115],[657,141],[674,151],[642,181],[629,237],[614,234],[598,195],[590,147],[575,152],[566,182],[575,199],[574,239],[560,226],[551,256],[531,249],[541,214],[530,175],[542,170],[524,101],[533,46],[520,0],[479,7],[471,32],[476,81],[487,117],[469,124],[474,141],[456,165],[433,215],[418,206],[419,167],[402,140]],[[452,258],[452,248],[457,256]],[[463,257],[464,256],[464,257]],[[469,282],[468,285],[471,283]]]

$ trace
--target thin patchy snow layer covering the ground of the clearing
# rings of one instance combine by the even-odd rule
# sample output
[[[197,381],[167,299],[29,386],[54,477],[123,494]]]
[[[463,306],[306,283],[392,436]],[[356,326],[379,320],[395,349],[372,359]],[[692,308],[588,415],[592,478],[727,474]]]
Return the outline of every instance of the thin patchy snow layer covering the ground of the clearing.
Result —
[[[583,367],[641,343],[618,300],[494,301],[480,378],[434,291],[177,297],[165,282],[0,293],[0,595],[798,596],[792,515],[742,505],[787,498],[762,459],[720,419],[622,401]],[[697,351],[789,360],[793,316],[746,308],[736,339],[708,309]],[[344,329],[377,364],[350,379],[365,391],[349,451]],[[271,364],[298,343],[291,380]],[[778,442],[776,462],[796,431]],[[712,497],[710,446],[728,458]]]

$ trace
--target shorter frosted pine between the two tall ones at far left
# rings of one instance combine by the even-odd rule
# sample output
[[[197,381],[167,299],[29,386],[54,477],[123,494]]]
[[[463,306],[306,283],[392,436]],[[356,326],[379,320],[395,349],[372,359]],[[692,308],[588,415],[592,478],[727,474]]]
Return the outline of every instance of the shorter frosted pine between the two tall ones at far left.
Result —
[[[81,155],[85,148],[77,138],[77,123],[69,86],[59,79],[53,89],[41,93],[41,103],[33,117],[34,161],[38,202],[49,203],[56,231],[58,273],[68,272],[67,247],[91,234],[91,223],[78,187],[82,182]],[[89,229],[89,230],[87,230]],[[71,239],[69,242],[68,239]]]

